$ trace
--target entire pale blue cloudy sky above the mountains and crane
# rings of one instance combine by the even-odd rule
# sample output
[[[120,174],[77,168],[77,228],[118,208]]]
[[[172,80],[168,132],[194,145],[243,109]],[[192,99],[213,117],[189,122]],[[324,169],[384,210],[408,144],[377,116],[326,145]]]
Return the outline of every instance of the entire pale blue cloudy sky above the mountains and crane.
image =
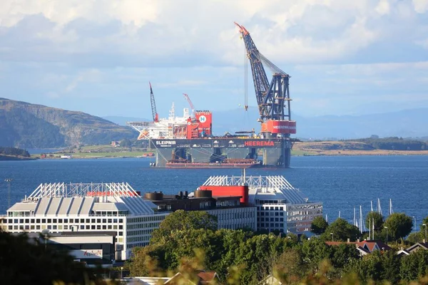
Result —
[[[428,0],[1,2],[0,97],[150,118],[151,81],[161,117],[188,106],[182,93],[196,109],[239,108],[237,21],[292,76],[294,113],[428,108]]]

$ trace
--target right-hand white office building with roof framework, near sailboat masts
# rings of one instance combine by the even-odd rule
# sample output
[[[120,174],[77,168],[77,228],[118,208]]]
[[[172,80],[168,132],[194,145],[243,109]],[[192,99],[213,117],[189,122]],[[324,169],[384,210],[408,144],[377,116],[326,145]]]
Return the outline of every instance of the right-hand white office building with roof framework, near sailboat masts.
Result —
[[[213,195],[230,190],[235,195],[243,185],[248,187],[248,204],[258,209],[259,230],[307,233],[312,220],[322,216],[322,203],[309,202],[282,176],[212,176],[200,189],[212,190]]]

